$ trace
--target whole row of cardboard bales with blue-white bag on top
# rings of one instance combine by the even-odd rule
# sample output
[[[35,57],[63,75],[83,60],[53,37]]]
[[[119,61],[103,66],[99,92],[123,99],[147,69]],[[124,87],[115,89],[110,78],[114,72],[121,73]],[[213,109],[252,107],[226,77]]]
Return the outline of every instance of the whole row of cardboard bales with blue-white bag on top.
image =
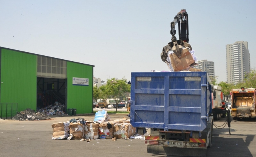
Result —
[[[78,118],[54,123],[52,139],[79,139],[89,142],[93,139],[112,139],[115,141],[115,139],[129,139],[135,135],[136,128],[125,117],[111,120],[107,111],[102,110],[95,114],[95,120],[97,121]]]

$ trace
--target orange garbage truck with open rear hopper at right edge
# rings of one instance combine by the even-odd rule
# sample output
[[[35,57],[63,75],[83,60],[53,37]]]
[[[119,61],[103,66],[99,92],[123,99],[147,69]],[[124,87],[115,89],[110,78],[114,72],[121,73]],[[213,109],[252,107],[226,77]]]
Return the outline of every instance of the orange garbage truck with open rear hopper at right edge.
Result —
[[[231,95],[231,116],[234,120],[241,118],[255,118],[255,89],[241,88],[232,89]]]

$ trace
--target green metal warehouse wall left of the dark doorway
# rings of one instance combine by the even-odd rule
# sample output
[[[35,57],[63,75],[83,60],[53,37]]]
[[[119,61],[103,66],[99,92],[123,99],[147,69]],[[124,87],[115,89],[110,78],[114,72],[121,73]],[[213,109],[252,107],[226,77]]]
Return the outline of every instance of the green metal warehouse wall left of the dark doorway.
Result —
[[[0,48],[1,51],[1,48]],[[0,102],[18,103],[18,111],[37,107],[37,56],[2,48]]]

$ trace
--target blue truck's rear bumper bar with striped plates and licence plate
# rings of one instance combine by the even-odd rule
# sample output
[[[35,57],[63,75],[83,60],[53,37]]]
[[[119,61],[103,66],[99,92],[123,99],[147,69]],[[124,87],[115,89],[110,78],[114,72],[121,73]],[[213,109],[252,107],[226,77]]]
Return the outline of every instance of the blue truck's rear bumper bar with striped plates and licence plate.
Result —
[[[198,148],[207,149],[207,142],[205,139],[190,139],[190,141],[175,141],[175,140],[146,140],[145,144],[165,146],[165,147],[176,147],[176,148]]]

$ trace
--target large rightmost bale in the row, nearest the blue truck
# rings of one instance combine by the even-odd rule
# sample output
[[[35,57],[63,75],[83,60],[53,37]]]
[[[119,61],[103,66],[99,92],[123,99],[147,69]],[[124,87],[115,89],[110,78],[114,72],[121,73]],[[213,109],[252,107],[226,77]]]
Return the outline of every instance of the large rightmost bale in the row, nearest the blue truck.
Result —
[[[113,134],[116,139],[128,139],[135,135],[136,131],[136,128],[127,122],[115,124],[113,129]]]

